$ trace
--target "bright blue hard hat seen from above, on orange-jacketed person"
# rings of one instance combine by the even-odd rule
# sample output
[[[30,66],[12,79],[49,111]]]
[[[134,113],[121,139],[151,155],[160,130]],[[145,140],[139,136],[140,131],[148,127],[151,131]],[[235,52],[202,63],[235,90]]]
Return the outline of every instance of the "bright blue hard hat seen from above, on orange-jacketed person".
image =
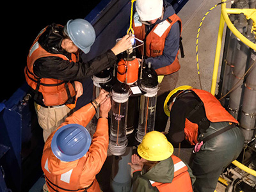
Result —
[[[64,125],[55,132],[51,148],[61,161],[75,161],[88,152],[91,136],[85,127],[79,124]]]

